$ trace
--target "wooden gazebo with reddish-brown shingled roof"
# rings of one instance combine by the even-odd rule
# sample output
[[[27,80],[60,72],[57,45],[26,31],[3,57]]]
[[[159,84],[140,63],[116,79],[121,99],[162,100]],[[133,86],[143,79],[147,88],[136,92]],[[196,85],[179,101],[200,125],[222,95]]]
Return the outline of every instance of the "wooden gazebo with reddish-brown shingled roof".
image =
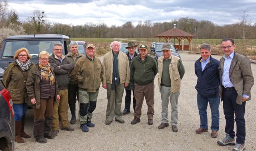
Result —
[[[180,30],[176,28],[176,24],[174,24],[174,28],[164,31],[161,34],[157,34],[156,37],[158,37],[158,41],[160,41],[162,38],[164,38],[168,43],[172,38],[176,38],[179,41],[179,45],[175,45],[175,48],[178,48],[180,50],[180,41],[182,42],[181,50],[192,50],[192,38],[195,37],[192,34],[189,34],[183,30]],[[189,40],[189,45],[184,45],[184,40]]]

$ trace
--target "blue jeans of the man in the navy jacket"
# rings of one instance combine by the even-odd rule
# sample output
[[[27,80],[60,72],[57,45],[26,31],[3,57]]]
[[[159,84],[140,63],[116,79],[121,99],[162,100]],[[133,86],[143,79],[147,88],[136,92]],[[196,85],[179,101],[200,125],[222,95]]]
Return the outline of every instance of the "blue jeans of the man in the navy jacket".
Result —
[[[207,106],[208,102],[212,111],[212,131],[218,131],[219,122],[220,122],[220,114],[219,114],[219,105],[220,105],[220,97],[215,98],[206,98],[202,97],[200,94],[197,96],[198,102],[198,110],[200,115],[200,128],[208,129],[207,123]]]

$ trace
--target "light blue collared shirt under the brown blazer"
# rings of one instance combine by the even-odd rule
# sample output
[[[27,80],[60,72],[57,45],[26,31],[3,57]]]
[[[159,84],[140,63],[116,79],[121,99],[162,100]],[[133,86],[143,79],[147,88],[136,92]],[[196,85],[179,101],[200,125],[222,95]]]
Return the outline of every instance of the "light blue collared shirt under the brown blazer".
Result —
[[[234,87],[233,83],[230,81],[230,77],[229,77],[229,69],[230,69],[230,65],[232,62],[232,59],[234,57],[234,51],[232,52],[232,54],[230,54],[228,57],[226,57],[226,55],[223,56],[224,58],[224,66],[223,66],[223,70],[222,70],[222,76],[221,76],[221,84],[227,88],[231,88]]]

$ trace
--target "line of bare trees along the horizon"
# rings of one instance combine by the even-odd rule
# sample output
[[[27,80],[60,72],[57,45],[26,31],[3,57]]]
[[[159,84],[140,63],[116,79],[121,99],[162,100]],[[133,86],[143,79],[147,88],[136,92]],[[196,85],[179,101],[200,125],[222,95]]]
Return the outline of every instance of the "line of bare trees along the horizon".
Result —
[[[7,1],[0,1],[0,37],[13,34],[64,34],[70,37],[91,38],[155,38],[157,34],[177,28],[195,35],[195,38],[221,39],[232,37],[236,39],[256,38],[256,23],[252,25],[248,19],[248,11],[241,12],[239,23],[219,26],[208,20],[196,20],[180,17],[169,22],[153,23],[151,20],[140,20],[136,26],[131,21],[122,26],[108,27],[104,22],[84,25],[67,25],[51,23],[45,20],[46,12],[35,10],[26,21],[20,21],[17,12],[10,10]]]

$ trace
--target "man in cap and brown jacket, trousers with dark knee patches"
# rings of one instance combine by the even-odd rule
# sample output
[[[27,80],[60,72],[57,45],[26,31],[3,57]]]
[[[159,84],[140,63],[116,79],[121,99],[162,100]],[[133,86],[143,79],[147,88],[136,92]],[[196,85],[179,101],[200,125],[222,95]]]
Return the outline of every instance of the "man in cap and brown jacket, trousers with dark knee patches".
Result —
[[[86,56],[81,57],[74,68],[73,79],[78,82],[79,87],[79,120],[82,131],[89,131],[88,127],[94,127],[91,122],[93,111],[102,83],[102,63],[95,57],[95,46],[86,46]]]

